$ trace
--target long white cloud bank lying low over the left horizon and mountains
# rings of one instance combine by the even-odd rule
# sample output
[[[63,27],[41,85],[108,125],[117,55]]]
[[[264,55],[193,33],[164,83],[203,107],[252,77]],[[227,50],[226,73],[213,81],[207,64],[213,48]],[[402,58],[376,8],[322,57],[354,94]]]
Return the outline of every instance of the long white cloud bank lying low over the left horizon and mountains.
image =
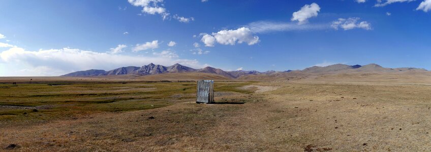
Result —
[[[172,65],[179,63],[193,68],[202,68],[197,60],[180,59],[170,51],[151,55],[119,55],[79,49],[51,49],[26,51],[9,48],[0,52],[0,76],[45,76],[61,75],[77,70],[111,70],[122,66],[141,66],[149,63]]]

